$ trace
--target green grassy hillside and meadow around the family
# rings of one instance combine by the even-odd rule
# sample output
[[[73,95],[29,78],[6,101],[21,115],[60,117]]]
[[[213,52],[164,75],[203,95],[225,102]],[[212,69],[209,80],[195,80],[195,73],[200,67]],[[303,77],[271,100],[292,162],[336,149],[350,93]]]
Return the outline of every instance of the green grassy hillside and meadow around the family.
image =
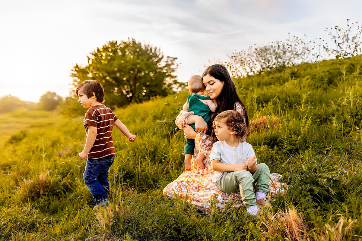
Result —
[[[41,128],[22,130],[19,122],[17,133],[4,134],[0,240],[361,239],[362,57],[281,67],[235,83],[254,126],[248,142],[290,185],[268,214],[231,208],[205,215],[162,195],[183,171],[183,133],[174,125],[188,95],[182,92],[115,111],[138,139],[114,131],[111,205],[99,212],[77,157],[83,117],[43,114],[52,119]],[[0,118],[13,125],[34,115]]]

